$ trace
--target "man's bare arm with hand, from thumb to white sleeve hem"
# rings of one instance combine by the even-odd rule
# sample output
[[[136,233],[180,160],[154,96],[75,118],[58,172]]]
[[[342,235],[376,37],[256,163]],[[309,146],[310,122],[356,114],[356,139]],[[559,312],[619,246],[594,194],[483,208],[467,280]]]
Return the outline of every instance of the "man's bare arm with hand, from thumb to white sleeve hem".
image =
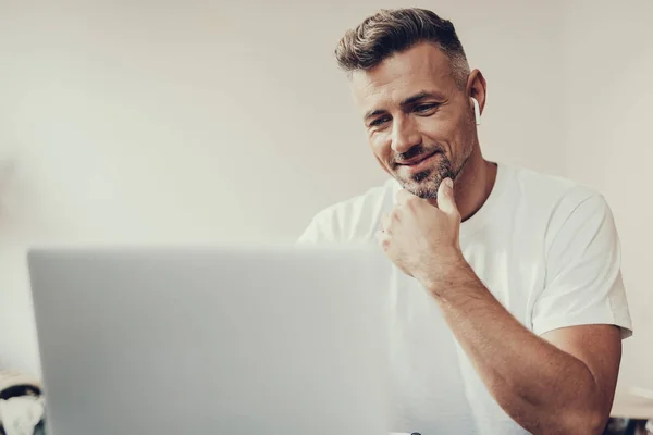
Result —
[[[581,325],[537,336],[465,261],[459,228],[454,190],[445,181],[436,203],[401,191],[378,238],[395,265],[435,297],[475,370],[510,418],[532,434],[600,434],[618,374],[619,330]]]

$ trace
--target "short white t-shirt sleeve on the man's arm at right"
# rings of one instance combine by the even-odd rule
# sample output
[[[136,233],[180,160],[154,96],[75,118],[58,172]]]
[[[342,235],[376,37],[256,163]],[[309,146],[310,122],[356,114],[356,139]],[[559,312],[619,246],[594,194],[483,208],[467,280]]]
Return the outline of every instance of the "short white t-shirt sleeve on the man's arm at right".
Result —
[[[623,338],[632,335],[620,268],[612,211],[603,196],[594,194],[574,208],[553,237],[545,287],[533,308],[533,332],[612,324],[621,328]]]

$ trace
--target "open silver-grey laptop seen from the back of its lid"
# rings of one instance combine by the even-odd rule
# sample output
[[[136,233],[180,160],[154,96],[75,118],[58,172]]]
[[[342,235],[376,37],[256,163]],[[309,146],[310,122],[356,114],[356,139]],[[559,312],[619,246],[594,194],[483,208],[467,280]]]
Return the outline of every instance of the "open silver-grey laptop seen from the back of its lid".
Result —
[[[382,261],[364,246],[33,249],[47,434],[392,432]]]

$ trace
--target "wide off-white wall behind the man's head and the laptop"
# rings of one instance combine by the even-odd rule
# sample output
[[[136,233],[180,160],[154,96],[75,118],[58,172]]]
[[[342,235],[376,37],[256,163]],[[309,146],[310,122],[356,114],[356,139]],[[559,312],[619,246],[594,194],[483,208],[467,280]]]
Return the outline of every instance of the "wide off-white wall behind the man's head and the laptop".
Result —
[[[209,3],[0,3],[0,366],[39,371],[27,246],[295,237],[381,182],[332,59],[379,8],[454,21],[488,157],[567,170],[559,2]]]

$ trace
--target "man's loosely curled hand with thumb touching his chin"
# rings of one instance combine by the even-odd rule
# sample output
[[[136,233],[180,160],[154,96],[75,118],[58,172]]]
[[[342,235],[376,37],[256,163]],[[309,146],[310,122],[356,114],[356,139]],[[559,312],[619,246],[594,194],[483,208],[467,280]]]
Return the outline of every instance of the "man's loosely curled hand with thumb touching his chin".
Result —
[[[434,202],[399,191],[396,207],[381,220],[377,238],[399,270],[438,291],[446,287],[441,284],[447,274],[464,261],[460,213],[451,178],[440,184]]]

